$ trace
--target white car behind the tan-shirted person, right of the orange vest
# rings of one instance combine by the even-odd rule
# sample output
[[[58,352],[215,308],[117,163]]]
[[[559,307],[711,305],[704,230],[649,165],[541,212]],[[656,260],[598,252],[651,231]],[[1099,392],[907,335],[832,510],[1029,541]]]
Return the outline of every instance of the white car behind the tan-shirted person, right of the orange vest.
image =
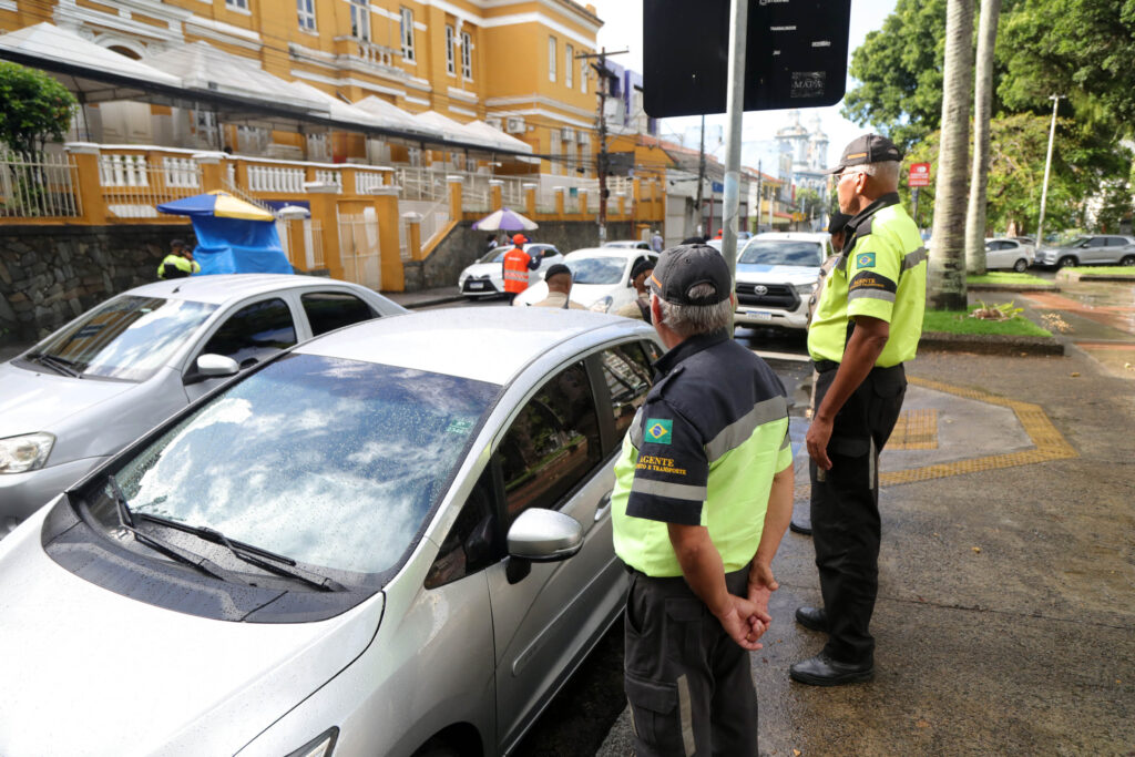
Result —
[[[631,267],[639,258],[658,261],[655,252],[633,247],[588,247],[564,255],[571,270],[571,300],[599,313],[613,313],[634,301],[638,293],[631,284]],[[548,296],[548,285],[539,281],[513,301],[515,306],[531,305]]]

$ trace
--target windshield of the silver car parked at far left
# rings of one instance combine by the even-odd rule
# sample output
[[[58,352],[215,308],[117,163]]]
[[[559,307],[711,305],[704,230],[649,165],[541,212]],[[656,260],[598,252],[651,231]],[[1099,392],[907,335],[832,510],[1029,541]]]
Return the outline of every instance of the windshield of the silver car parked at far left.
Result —
[[[90,311],[28,354],[66,363],[83,376],[144,381],[166,363],[217,305],[124,295]]]

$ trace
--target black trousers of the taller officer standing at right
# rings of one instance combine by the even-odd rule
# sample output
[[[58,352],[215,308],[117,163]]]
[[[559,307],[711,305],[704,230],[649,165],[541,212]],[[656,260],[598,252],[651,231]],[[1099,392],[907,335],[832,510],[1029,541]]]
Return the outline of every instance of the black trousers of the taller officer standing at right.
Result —
[[[838,368],[817,364],[816,407]],[[878,453],[894,429],[906,388],[901,364],[872,369],[835,415],[827,443],[831,470],[815,461],[810,465],[812,539],[829,626],[824,651],[842,663],[874,662],[868,625],[878,594]]]

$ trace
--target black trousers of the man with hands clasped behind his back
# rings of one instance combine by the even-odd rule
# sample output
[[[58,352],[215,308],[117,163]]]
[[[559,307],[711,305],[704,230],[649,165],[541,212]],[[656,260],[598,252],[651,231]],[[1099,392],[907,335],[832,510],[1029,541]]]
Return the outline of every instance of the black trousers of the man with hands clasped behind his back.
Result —
[[[730,594],[746,596],[748,575],[748,566],[726,573]],[[631,571],[623,621],[636,756],[757,757],[749,653],[686,579]]]

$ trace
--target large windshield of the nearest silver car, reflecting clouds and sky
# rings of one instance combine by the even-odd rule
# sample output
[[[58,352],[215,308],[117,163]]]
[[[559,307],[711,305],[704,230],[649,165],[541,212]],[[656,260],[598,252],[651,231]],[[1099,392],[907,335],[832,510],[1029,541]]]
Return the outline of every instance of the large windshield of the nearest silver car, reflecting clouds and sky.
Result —
[[[309,565],[381,573],[413,546],[499,387],[293,354],[116,476],[131,507]]]

